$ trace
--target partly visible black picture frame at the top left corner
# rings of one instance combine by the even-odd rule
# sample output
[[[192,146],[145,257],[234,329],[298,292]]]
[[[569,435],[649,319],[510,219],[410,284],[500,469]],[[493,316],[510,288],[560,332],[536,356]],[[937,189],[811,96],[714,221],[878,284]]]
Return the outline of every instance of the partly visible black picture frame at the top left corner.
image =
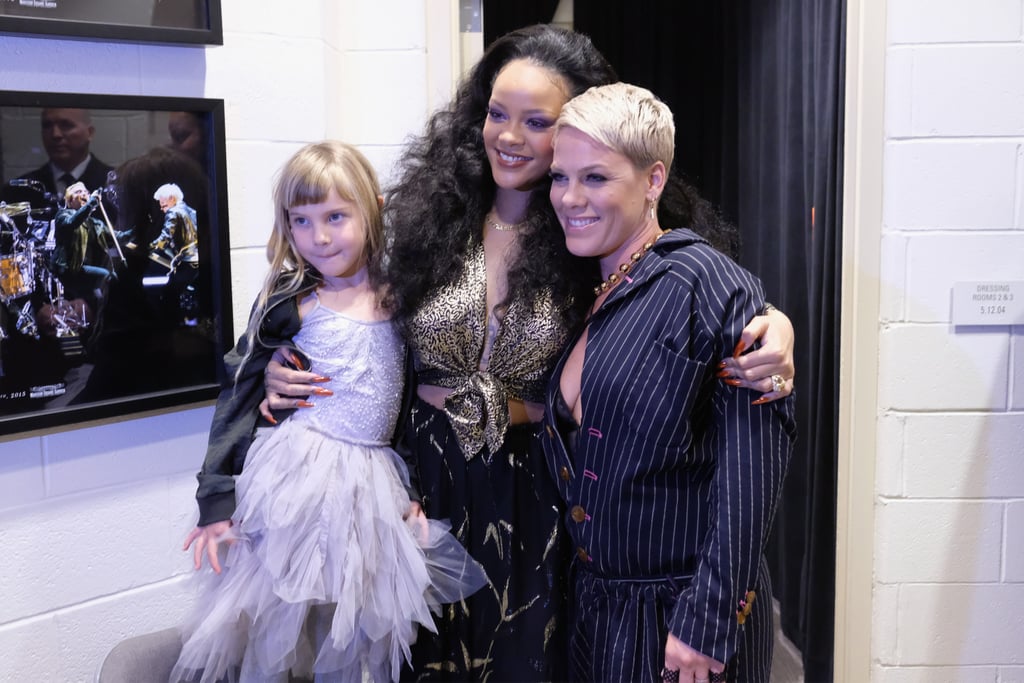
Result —
[[[220,0],[0,0],[0,33],[223,45]]]

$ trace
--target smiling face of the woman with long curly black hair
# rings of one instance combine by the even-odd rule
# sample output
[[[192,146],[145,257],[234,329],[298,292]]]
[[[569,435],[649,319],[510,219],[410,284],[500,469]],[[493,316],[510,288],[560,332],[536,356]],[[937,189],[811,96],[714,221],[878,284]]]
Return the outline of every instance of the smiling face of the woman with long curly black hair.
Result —
[[[547,174],[554,124],[568,92],[561,76],[525,59],[514,59],[499,72],[483,123],[495,184],[530,189]]]

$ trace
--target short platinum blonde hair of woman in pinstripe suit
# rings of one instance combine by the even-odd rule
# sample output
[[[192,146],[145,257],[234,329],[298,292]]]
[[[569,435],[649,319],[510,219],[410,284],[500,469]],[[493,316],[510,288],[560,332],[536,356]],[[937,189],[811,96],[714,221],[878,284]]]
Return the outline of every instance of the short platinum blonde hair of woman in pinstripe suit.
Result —
[[[562,108],[555,124],[556,144],[566,127],[625,156],[637,168],[657,161],[667,171],[672,167],[676,154],[672,110],[646,88],[629,83],[595,86]]]

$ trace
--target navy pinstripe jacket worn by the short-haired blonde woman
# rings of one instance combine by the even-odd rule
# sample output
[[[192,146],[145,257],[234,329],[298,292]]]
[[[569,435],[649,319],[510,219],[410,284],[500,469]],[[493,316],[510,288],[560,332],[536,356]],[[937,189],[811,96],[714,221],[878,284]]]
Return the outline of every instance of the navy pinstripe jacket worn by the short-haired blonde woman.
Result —
[[[694,232],[658,240],[590,319],[574,458],[555,427],[548,464],[585,569],[607,578],[683,578],[669,630],[727,661],[736,610],[754,588],[796,434],[793,397],[717,377],[764,305],[760,282]],[[571,345],[569,346],[571,348]]]

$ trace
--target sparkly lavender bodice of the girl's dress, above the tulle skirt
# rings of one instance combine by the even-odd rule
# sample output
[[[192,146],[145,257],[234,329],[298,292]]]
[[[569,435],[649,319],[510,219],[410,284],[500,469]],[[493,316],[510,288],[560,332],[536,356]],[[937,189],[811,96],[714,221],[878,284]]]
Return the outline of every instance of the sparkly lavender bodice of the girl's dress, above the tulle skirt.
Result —
[[[317,431],[353,443],[390,443],[404,381],[404,345],[390,322],[357,321],[318,301],[302,321],[296,345],[312,371],[331,381],[321,386],[333,396],[312,395],[315,407],[296,411]]]

